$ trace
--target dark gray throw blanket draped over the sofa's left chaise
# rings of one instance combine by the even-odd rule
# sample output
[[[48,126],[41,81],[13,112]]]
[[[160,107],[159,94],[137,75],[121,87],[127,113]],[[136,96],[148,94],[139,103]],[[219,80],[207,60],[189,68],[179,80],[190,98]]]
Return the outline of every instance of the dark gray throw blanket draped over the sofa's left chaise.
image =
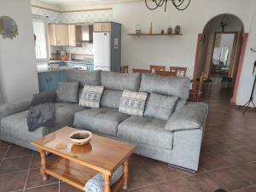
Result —
[[[38,93],[33,96],[27,114],[28,131],[36,131],[39,127],[55,125],[55,91]]]

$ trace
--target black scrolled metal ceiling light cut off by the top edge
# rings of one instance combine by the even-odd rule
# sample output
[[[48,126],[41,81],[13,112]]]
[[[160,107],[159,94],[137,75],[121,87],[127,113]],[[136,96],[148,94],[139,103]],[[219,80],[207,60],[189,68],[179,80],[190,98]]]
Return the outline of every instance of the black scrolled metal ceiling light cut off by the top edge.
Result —
[[[146,6],[150,10],[160,8],[165,4],[165,12],[167,7],[167,2],[171,1],[173,6],[177,10],[185,10],[189,7],[190,0],[145,0]]]

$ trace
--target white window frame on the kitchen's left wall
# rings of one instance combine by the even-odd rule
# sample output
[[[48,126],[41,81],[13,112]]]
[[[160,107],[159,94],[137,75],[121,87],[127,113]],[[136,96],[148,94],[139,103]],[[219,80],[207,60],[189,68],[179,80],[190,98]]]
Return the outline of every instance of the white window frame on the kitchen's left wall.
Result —
[[[32,22],[34,22],[34,20],[42,20],[44,21],[44,29],[45,29],[45,39],[46,39],[46,51],[47,51],[47,58],[45,59],[38,59],[36,58],[36,61],[37,61],[37,65],[40,65],[40,64],[45,64],[45,63],[49,63],[50,61],[50,54],[49,54],[49,35],[48,35],[48,24],[49,24],[49,21],[48,21],[48,18],[45,17],[45,16],[42,16],[42,15],[32,15]],[[32,23],[33,25],[33,23]],[[33,29],[33,34],[34,33],[34,29]]]

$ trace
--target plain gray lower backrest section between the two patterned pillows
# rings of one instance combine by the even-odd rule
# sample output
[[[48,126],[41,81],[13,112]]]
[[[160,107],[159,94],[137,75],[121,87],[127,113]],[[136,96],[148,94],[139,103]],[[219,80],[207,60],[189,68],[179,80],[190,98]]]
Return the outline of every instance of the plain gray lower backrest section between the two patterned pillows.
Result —
[[[102,94],[103,108],[119,108],[123,91],[121,90],[104,90]]]

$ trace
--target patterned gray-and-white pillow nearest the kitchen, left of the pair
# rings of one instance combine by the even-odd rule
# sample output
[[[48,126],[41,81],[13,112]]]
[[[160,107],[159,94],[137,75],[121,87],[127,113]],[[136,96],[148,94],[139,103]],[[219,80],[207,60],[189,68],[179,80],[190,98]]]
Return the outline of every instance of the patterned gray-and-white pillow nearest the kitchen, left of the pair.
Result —
[[[87,108],[100,108],[104,87],[84,84],[84,89],[79,99],[79,105]]]

